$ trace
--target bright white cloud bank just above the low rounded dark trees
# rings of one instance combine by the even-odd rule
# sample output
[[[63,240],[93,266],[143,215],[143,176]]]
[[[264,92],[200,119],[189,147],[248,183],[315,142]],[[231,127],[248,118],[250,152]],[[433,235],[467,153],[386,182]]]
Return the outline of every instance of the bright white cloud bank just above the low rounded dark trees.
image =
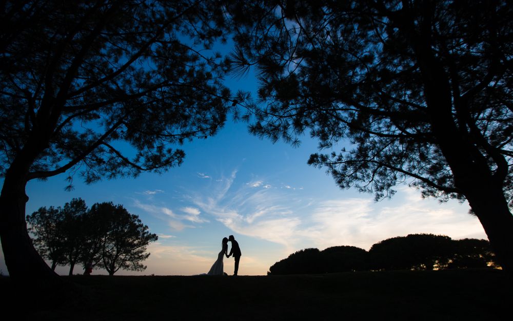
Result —
[[[308,228],[298,231],[318,248],[350,245],[369,250],[373,243],[415,233],[448,235],[453,239],[486,238],[479,220],[466,214],[468,205],[439,204],[422,199],[411,188],[400,188],[402,200],[374,203],[370,199],[324,201],[313,209]],[[383,206],[388,202],[389,206]]]

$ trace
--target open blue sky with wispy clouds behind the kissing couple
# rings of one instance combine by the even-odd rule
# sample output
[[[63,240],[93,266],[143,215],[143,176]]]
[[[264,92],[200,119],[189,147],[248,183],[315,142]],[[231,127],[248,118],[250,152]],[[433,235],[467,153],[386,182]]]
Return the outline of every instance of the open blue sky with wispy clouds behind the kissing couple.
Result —
[[[252,79],[251,72],[243,79],[228,77],[226,85],[254,92]],[[139,215],[159,240],[148,246],[145,271],[120,270],[116,275],[206,273],[229,235],[241,247],[239,275],[266,275],[275,262],[306,248],[369,250],[386,238],[413,233],[486,239],[466,202],[423,199],[406,185],[380,202],[371,194],[341,190],[324,169],[307,165],[310,154],[319,151],[308,136],[299,147],[272,144],[250,135],[246,123],[228,120],[218,135],[180,148],[186,153],[184,163],[162,175],[144,173],[91,185],[77,175],[70,192],[65,191],[66,174],[30,181],[26,213],[80,197],[89,207],[112,201]],[[67,275],[68,269],[56,271]],[[224,259],[224,271],[233,273],[232,257]],[[0,273],[8,274],[3,252]],[[74,273],[83,273],[82,267],[76,266]]]

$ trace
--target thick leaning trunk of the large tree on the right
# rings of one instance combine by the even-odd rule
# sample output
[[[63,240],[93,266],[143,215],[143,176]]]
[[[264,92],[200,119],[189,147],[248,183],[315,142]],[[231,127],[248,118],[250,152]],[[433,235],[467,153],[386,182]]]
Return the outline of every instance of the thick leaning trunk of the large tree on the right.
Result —
[[[453,102],[449,75],[443,63],[432,53],[429,42],[431,29],[429,27],[422,30],[427,33],[411,33],[410,41],[414,44],[424,79],[427,112],[433,136],[451,168],[455,186],[481,221],[500,265],[512,274],[513,216],[502,190],[505,177],[492,171],[488,163],[490,156],[483,155],[482,149],[478,147],[482,146],[482,141],[462,121],[471,119],[468,105],[462,100]],[[454,115],[455,111],[457,117]],[[502,176],[505,175],[507,170],[502,172]]]

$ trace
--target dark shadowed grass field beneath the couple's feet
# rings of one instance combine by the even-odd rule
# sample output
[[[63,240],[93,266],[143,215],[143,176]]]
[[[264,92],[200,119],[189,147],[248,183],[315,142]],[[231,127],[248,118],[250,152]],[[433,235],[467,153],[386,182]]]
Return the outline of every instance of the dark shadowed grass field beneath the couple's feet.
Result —
[[[13,320],[88,321],[495,320],[513,307],[511,280],[498,270],[63,279],[0,278],[3,304],[24,304]]]

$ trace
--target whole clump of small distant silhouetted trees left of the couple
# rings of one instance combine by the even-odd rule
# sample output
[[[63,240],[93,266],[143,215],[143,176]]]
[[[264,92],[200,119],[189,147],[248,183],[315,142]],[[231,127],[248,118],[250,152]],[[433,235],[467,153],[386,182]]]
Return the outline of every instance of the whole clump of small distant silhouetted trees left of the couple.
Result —
[[[157,240],[139,216],[122,205],[95,203],[90,209],[84,200],[74,198],[64,207],[41,207],[27,216],[28,230],[36,250],[58,265],[84,266],[84,274],[104,268],[109,275],[120,269],[143,271],[148,258],[146,247]]]

